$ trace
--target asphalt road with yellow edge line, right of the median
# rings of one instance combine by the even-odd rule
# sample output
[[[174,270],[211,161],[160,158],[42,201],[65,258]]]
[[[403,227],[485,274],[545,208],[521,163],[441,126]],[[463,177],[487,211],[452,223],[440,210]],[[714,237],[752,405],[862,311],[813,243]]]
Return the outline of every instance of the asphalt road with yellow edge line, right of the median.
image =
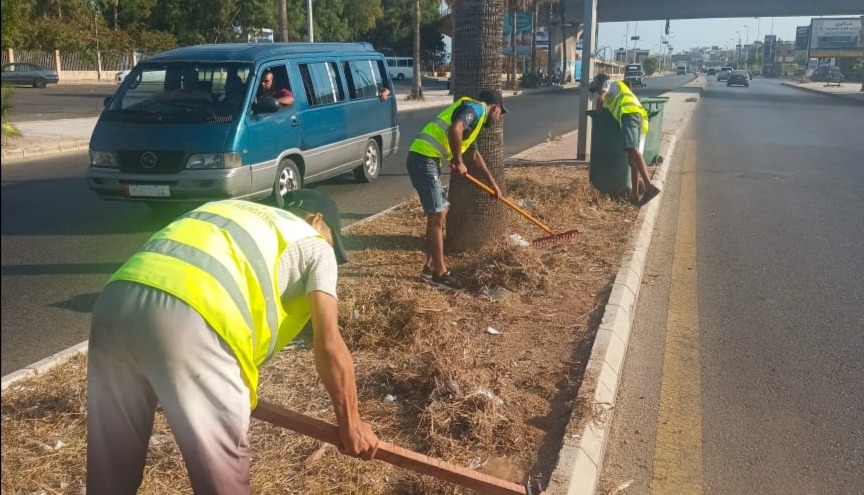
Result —
[[[864,112],[705,87],[673,155],[597,493],[864,487]]]

